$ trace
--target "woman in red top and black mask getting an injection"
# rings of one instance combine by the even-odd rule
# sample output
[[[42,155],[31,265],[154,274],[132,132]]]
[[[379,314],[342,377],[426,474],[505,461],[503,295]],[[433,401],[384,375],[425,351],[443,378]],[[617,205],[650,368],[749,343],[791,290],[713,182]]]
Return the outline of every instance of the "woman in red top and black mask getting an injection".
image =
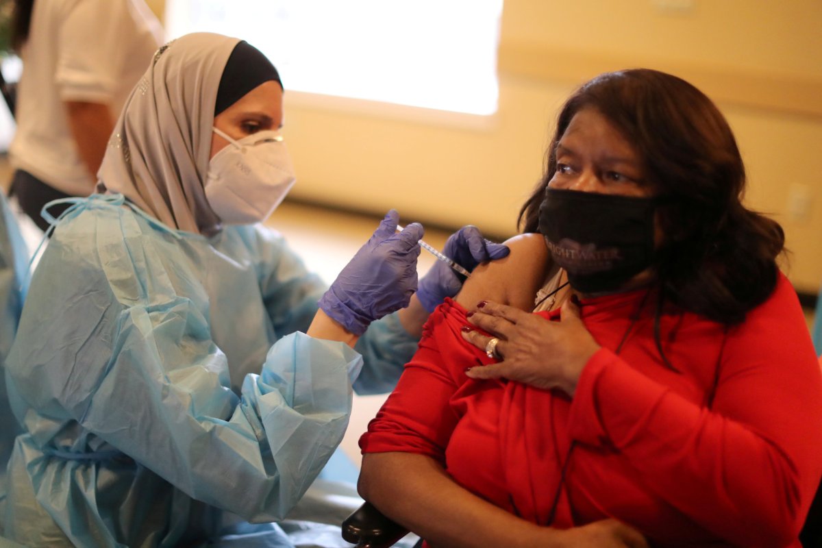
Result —
[[[432,314],[361,439],[363,497],[434,546],[600,546],[607,518],[653,546],[799,546],[822,375],[744,187],[686,81],[583,85],[523,210],[540,234]],[[572,298],[529,313],[556,265]]]

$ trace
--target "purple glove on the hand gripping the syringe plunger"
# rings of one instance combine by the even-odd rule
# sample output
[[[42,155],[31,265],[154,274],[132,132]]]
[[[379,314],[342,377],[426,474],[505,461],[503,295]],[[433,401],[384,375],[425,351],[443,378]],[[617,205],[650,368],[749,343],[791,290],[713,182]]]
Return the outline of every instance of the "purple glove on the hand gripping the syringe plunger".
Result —
[[[374,320],[409,306],[417,290],[417,257],[423,226],[409,224],[397,233],[399,214],[390,210],[357,255],[339,273],[320,308],[355,335]]]

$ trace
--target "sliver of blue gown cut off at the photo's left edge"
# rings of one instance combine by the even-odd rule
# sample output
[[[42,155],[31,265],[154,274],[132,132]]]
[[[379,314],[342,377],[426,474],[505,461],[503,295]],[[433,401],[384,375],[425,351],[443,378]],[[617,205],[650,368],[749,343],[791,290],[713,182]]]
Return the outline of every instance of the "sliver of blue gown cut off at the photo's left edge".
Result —
[[[14,438],[21,432],[8,405],[4,371],[23,310],[28,268],[25,242],[6,196],[0,192],[0,514],[6,498],[6,463],[12,454]]]

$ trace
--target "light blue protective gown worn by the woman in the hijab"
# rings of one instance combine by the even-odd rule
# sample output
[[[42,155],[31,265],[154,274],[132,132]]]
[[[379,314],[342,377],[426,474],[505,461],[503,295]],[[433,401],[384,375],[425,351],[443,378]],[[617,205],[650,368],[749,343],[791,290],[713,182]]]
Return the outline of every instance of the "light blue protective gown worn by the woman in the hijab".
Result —
[[[342,439],[363,363],[294,333],[324,289],[266,228],[206,238],[122,196],[81,200],[32,277],[7,362],[26,433],[4,536],[179,546],[224,534],[224,510],[283,518]],[[395,316],[376,322],[358,383],[390,388],[415,348]]]

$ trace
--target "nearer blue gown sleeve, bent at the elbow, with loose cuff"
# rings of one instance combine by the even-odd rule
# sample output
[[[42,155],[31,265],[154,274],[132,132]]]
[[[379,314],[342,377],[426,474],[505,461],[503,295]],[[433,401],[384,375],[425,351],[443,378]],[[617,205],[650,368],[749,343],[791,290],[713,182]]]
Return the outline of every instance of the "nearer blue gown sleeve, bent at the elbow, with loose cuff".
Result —
[[[196,276],[128,221],[49,244],[9,357],[16,416],[45,454],[113,447],[196,500],[283,518],[343,437],[362,358],[291,334],[238,398],[202,296],[178,291]]]

